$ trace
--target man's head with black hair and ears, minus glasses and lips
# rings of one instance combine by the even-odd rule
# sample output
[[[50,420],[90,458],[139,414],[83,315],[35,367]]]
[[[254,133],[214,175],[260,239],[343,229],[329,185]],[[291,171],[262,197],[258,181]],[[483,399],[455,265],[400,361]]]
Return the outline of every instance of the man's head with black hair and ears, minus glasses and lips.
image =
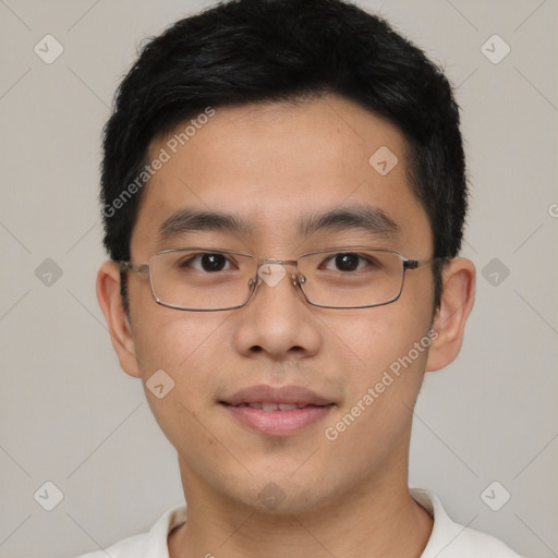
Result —
[[[300,511],[404,476],[423,374],[458,354],[474,290],[472,264],[456,258],[465,165],[440,70],[339,0],[222,3],[145,46],[104,150],[111,260],[98,296],[123,369],[144,383],[163,369],[174,383],[161,399],[146,395],[185,484],[265,507],[258,495],[275,482],[281,508]],[[388,172],[377,153],[389,154]],[[353,227],[363,208],[383,228]],[[184,210],[231,220],[160,234]],[[311,231],[335,211],[333,226]],[[434,263],[381,306],[313,306],[284,280],[218,312],[159,305],[147,277],[117,264],[185,246],[293,260],[362,245]],[[327,409],[294,434],[266,435],[231,414],[255,385],[312,389]]]

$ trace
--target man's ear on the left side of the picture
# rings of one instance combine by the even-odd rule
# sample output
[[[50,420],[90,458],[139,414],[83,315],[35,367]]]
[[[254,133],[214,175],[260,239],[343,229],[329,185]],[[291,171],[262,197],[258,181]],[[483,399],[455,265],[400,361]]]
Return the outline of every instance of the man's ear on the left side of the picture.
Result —
[[[120,295],[120,270],[116,262],[105,262],[97,274],[97,300],[109,327],[110,340],[122,369],[140,377],[132,325]]]

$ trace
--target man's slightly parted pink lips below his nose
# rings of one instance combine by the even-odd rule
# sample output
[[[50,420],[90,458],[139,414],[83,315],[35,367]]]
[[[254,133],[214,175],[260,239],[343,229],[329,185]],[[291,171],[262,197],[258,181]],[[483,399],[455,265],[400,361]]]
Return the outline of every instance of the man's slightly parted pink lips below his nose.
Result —
[[[293,435],[324,418],[335,402],[300,386],[259,385],[220,401],[244,426],[266,436]]]

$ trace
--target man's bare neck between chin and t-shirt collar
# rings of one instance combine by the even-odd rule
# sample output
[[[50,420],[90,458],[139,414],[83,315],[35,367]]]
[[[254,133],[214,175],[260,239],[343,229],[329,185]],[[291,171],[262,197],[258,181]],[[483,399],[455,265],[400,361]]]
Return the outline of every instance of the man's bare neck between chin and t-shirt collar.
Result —
[[[281,514],[216,495],[181,464],[187,522],[169,536],[170,557],[418,558],[433,520],[411,498],[404,463],[319,509]]]

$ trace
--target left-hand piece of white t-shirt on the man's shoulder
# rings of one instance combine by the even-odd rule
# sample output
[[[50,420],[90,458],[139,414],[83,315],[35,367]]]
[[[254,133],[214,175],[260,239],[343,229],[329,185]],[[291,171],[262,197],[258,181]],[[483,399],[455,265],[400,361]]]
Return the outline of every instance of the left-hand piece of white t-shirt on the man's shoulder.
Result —
[[[186,507],[180,506],[168,510],[147,532],[134,535],[113,545],[76,558],[168,558],[167,539],[169,533],[186,521]]]

